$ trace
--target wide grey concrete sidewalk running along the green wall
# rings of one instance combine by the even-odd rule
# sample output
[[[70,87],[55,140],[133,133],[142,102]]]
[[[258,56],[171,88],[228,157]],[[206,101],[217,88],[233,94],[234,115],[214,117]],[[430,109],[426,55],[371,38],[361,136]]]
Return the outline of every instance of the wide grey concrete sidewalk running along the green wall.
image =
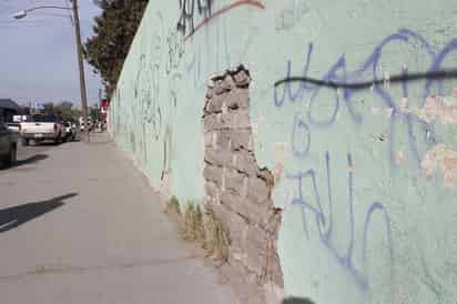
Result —
[[[234,304],[110,142],[0,171],[1,304]]]

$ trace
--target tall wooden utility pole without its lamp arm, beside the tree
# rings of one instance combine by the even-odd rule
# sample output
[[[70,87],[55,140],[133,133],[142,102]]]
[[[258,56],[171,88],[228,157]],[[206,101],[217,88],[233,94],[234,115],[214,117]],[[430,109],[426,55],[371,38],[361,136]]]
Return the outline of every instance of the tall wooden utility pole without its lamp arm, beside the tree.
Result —
[[[82,43],[81,43],[81,29],[80,29],[80,17],[78,13],[78,0],[70,0],[73,2],[73,17],[74,17],[74,31],[77,37],[77,48],[78,48],[78,64],[80,70],[80,89],[81,89],[81,104],[82,104],[82,115],[84,119],[84,132],[85,141],[90,142],[89,138],[89,123],[88,123],[88,94],[85,91],[85,78],[84,78],[84,61],[82,58]]]

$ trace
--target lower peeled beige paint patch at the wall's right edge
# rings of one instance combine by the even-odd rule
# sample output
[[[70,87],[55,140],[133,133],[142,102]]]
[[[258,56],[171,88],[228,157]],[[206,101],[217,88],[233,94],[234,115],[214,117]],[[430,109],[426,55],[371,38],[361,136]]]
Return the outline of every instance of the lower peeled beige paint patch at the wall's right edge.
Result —
[[[457,188],[457,152],[446,149],[443,143],[431,148],[422,162],[425,176],[431,179],[438,165],[443,171],[444,186]]]

